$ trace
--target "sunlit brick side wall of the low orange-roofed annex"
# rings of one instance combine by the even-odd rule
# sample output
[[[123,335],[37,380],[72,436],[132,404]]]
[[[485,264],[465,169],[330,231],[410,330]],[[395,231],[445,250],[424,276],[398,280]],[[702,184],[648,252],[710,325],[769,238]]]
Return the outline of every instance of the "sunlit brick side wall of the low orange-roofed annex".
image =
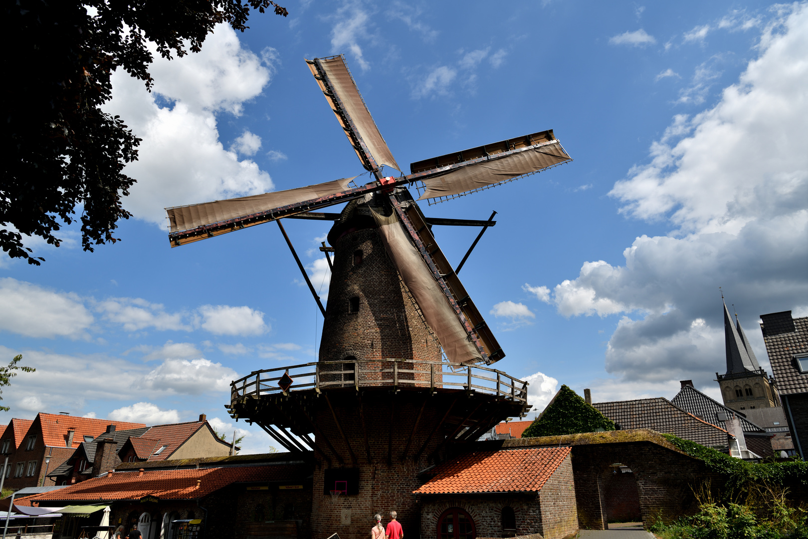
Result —
[[[545,539],[558,539],[578,531],[572,455],[568,454],[539,491],[541,529]]]

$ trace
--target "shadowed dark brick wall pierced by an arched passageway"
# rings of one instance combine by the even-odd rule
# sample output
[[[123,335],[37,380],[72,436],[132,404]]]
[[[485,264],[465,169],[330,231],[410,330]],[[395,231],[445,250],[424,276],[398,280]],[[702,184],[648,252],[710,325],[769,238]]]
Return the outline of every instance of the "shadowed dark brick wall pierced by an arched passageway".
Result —
[[[646,528],[657,518],[667,522],[695,513],[692,487],[718,479],[702,461],[653,442],[574,445],[572,465],[581,528],[608,528],[607,486],[611,465],[618,462],[633,470]]]

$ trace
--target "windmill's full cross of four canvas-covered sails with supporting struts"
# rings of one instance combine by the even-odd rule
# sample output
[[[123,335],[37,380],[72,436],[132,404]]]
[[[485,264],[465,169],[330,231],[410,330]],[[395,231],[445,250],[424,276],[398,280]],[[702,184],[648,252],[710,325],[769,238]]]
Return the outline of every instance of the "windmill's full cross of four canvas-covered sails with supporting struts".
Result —
[[[410,164],[410,174],[404,175],[368,112],[343,56],[315,58],[306,60],[306,64],[356,156],[374,179],[351,187],[355,176],[263,195],[166,208],[171,246],[268,221],[276,221],[283,231],[282,218],[317,218],[326,214],[313,213],[314,210],[361,200],[371,208],[385,250],[440,340],[448,361],[491,364],[502,359],[502,348],[457,277],[462,263],[457,270],[452,268],[431,234],[430,220],[423,216],[408,187],[416,188],[418,200],[437,204],[561,165],[571,161],[569,155],[553,131],[547,130],[414,162]],[[385,176],[385,167],[400,175]],[[483,232],[486,222],[490,225],[490,220],[482,221]],[[292,248],[285,231],[284,238]],[[299,259],[297,264],[309,282]],[[309,288],[325,316],[326,310],[310,282]]]

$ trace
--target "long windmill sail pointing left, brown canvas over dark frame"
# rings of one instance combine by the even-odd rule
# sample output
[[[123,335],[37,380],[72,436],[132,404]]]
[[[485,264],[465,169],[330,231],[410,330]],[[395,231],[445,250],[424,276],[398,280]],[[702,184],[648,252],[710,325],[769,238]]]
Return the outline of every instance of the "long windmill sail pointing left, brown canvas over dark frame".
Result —
[[[308,208],[337,204],[342,200],[328,202],[322,199],[346,192],[362,191],[361,189],[351,190],[348,188],[348,183],[351,183],[354,178],[356,176],[337,179],[333,182],[297,187],[296,189],[263,193],[262,195],[241,196],[233,199],[204,202],[203,204],[166,208],[170,224],[169,238],[171,244],[174,246],[180,243],[196,241],[197,239],[208,238],[210,235],[224,234],[234,229],[258,225],[277,217],[284,217],[284,214],[275,215],[279,208],[297,205],[300,206],[297,213],[301,213],[307,211]],[[301,205],[309,201],[312,204]],[[322,203],[318,204],[321,201]],[[200,234],[183,234],[187,233],[187,231],[198,231],[200,229]]]

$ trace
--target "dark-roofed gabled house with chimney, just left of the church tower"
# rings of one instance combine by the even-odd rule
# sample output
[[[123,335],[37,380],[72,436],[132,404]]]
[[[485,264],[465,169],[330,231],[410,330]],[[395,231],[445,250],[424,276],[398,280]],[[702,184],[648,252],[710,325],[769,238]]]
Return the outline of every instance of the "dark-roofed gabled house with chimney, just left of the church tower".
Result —
[[[722,405],[720,402],[709,398],[706,394],[696,390],[693,387],[691,380],[683,380],[680,382],[682,389],[671,400],[675,406],[679,406],[682,410],[695,415],[699,419],[704,419],[708,423],[713,423],[718,427],[730,431],[727,424],[731,418],[739,420],[741,430],[743,431],[743,438],[746,441],[748,449],[760,455],[760,457],[774,457],[772,449],[772,436],[773,434],[766,432],[764,427],[760,427],[747,418],[746,413],[734,411],[728,406]],[[781,411],[779,407],[761,407],[757,410],[760,411]],[[749,410],[753,412],[756,410]]]

